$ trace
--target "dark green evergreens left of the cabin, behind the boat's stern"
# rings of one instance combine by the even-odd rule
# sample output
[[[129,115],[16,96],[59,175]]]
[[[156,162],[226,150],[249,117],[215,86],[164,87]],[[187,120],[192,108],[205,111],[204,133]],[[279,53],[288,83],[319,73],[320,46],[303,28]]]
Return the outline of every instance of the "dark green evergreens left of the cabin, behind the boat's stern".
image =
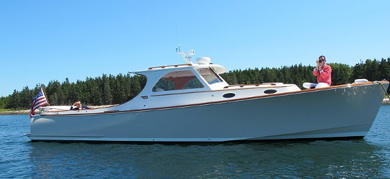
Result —
[[[66,78],[63,83],[51,80],[44,87],[50,105],[72,105],[75,101],[81,101],[85,105],[109,105],[125,103],[140,93],[146,84],[143,76],[115,76],[103,74],[102,77],[86,78],[85,81],[77,80],[70,83]],[[0,109],[28,109],[31,100],[37,94],[42,85],[36,85],[34,89],[24,87],[21,92],[14,90],[13,94],[0,98]]]

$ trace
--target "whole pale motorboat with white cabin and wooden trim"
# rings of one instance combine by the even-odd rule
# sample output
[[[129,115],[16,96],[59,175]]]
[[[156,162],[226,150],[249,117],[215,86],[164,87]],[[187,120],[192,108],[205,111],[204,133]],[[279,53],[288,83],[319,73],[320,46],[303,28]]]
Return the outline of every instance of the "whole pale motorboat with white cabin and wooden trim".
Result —
[[[361,138],[389,82],[361,81],[317,89],[294,84],[229,85],[210,58],[133,74],[147,83],[131,101],[109,108],[47,106],[31,119],[31,141],[226,142]]]

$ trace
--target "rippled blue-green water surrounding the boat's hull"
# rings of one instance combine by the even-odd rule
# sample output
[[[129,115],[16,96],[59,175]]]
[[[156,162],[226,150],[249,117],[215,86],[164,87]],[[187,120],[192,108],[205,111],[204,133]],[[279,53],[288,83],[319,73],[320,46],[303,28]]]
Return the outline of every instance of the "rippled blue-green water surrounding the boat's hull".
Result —
[[[0,178],[390,178],[390,105],[364,139],[228,144],[30,142],[0,116]]]

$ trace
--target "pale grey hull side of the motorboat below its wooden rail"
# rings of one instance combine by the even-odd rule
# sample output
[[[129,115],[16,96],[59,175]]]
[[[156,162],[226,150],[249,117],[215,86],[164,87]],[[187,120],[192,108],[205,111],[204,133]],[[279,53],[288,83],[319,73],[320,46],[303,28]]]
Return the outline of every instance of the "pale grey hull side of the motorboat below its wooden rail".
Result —
[[[373,84],[182,108],[42,116],[31,122],[31,139],[223,142],[363,137],[373,124],[383,96],[382,87]]]

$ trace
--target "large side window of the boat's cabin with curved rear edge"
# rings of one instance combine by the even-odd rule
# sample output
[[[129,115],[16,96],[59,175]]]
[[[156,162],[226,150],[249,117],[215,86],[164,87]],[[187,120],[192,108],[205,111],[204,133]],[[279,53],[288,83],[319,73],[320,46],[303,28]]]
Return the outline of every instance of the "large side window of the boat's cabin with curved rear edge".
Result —
[[[152,88],[153,92],[163,92],[178,89],[194,89],[204,87],[193,71],[172,71],[165,74]]]

